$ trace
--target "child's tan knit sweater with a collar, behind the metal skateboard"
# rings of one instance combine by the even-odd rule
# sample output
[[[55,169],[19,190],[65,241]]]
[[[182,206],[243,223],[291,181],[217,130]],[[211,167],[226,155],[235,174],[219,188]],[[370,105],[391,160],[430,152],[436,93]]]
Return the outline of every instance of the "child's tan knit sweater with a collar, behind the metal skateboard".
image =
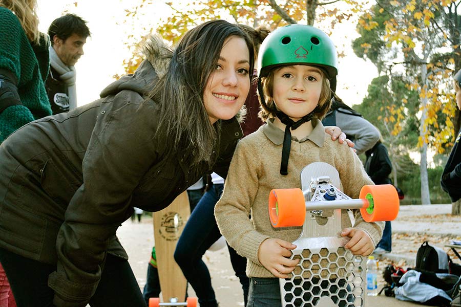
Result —
[[[338,188],[353,199],[359,198],[364,185],[373,184],[351,148],[332,141],[319,120],[313,119],[312,125],[314,128],[307,138],[291,140],[287,176],[280,174],[284,131],[271,121],[237,145],[223,195],[215,207],[215,216],[229,245],[249,260],[246,268],[249,277],[274,277],[258,260],[259,246],[266,238],[293,242],[301,233],[301,227],[271,226],[268,213],[271,189],[301,188],[301,170],[313,162],[334,166],[342,183]],[[250,213],[251,220],[248,218]],[[384,222],[367,223],[359,210],[354,210],[354,215],[354,227],[366,231],[376,245],[383,233]],[[351,227],[346,210],[342,211],[342,226]]]

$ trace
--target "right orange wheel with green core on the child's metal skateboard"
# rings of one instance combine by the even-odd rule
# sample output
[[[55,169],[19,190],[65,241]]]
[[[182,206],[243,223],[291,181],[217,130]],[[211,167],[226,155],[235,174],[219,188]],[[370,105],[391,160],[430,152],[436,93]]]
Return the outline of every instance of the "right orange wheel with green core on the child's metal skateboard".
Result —
[[[365,222],[393,221],[399,214],[399,194],[391,184],[363,186],[360,198],[369,202],[360,209]]]

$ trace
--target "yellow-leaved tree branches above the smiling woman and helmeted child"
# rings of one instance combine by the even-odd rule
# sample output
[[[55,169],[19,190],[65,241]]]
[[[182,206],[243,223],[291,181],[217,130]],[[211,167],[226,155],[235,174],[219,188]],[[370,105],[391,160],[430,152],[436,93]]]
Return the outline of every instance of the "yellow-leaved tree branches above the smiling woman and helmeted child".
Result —
[[[149,10],[154,8],[153,3],[154,0],[139,0],[138,5],[125,10],[127,18],[133,19],[149,14]],[[235,23],[255,28],[264,25],[270,30],[288,24],[313,25],[316,21],[328,20],[325,29],[332,31],[336,25],[349,20],[368,6],[368,0],[289,0],[281,2],[283,5],[277,4],[276,0],[177,0],[165,3],[173,13],[160,21],[160,26],[155,32],[171,45],[174,45],[187,30],[213,19],[230,19]],[[126,73],[133,73],[141,63],[142,44],[152,33],[154,29],[151,28],[136,41],[129,36],[127,47],[132,50],[133,56],[123,61]]]

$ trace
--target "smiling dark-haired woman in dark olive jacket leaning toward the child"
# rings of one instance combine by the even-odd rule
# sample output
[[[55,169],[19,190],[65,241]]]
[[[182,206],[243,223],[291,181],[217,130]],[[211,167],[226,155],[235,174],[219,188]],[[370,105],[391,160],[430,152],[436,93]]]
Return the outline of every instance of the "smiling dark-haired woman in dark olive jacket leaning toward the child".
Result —
[[[225,176],[252,43],[222,20],[187,32],[173,53],[159,41],[101,99],[0,146],[0,261],[19,306],[145,305],[118,226],[133,206],[166,207],[203,173]]]

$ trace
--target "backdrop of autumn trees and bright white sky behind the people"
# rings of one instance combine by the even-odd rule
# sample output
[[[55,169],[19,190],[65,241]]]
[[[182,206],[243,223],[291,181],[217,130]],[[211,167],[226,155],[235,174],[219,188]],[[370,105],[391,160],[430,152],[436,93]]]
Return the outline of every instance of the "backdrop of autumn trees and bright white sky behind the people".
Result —
[[[382,133],[402,204],[430,204],[450,203],[439,179],[460,125],[452,84],[461,68],[460,2],[38,0],[38,17],[43,32],[65,13],[88,21],[92,34],[76,64],[78,105],[133,72],[150,34],[174,46],[187,29],[216,18],[271,30],[314,25],[338,47],[338,95]]]

